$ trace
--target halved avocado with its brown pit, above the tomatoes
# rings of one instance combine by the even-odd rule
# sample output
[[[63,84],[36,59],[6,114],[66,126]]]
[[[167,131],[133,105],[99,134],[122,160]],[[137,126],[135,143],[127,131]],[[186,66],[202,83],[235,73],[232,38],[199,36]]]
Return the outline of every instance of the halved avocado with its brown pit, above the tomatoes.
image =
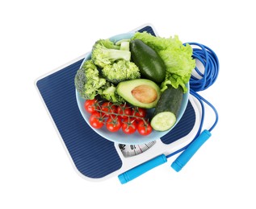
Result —
[[[128,103],[145,109],[157,106],[160,88],[152,80],[136,79],[120,82],[116,92]]]

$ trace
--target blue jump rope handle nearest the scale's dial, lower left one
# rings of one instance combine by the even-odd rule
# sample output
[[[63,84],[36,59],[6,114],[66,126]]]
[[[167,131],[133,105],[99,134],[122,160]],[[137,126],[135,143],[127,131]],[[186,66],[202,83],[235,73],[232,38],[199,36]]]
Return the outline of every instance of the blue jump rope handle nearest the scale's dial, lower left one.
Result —
[[[154,167],[164,164],[165,162],[167,162],[166,155],[161,154],[156,158],[153,158],[147,162],[142,163],[139,166],[132,168],[131,170],[124,172],[123,174],[120,174],[118,178],[120,179],[120,182],[124,184],[126,182],[132,181],[132,179],[137,178],[141,174],[144,174],[145,172],[153,169]]]

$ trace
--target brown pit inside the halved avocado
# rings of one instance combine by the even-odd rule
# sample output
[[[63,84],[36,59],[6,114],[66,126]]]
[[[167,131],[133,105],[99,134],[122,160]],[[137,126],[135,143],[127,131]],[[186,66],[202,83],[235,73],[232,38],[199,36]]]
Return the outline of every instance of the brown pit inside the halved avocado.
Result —
[[[139,85],[132,89],[132,96],[141,103],[149,104],[157,100],[157,91],[149,85]]]

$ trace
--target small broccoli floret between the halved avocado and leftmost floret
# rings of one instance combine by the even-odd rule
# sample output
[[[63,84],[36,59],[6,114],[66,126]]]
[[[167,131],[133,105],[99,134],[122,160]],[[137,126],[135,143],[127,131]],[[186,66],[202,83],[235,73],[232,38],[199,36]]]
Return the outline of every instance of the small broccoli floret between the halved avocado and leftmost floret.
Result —
[[[125,100],[115,92],[115,86],[107,82],[104,86],[102,92],[100,92],[100,96],[105,99],[113,102],[114,104],[123,104]]]

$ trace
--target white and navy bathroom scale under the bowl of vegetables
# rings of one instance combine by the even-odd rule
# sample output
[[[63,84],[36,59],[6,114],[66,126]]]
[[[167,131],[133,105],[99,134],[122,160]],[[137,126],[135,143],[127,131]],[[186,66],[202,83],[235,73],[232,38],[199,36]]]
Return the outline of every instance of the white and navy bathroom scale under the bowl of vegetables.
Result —
[[[150,25],[134,31],[147,31],[156,35]],[[75,94],[74,76],[83,59],[84,55],[40,76],[35,82],[73,168],[82,178],[103,181],[118,177],[123,183],[128,181],[123,176],[126,171],[162,154],[176,154],[191,143],[200,123],[200,106],[192,95],[189,96],[183,117],[174,129],[155,141],[125,145],[108,141],[95,133],[82,117]]]

